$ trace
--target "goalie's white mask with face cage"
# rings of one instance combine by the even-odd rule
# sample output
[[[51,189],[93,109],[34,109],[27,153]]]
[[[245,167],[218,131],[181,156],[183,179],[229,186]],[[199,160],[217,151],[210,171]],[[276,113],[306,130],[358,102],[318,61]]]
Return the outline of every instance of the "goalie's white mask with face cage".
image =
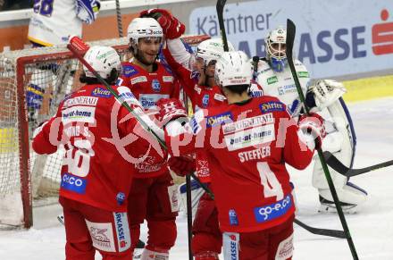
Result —
[[[273,29],[267,38],[264,39],[266,58],[272,66],[273,71],[283,71],[287,65],[287,55],[285,54],[287,30],[281,26]]]

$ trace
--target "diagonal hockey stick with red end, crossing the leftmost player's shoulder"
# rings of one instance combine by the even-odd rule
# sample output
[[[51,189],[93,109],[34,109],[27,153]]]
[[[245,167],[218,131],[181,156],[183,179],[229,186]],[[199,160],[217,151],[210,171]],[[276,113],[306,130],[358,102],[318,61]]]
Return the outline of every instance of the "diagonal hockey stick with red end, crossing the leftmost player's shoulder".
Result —
[[[158,134],[153,130],[150,126],[147,125],[147,123],[140,117],[140,114],[146,115],[143,113],[142,110],[136,111],[136,109],[133,109],[130,107],[130,105],[126,101],[122,101],[121,97],[117,92],[109,85],[97,72],[93,67],[86,62],[86,60],[80,55],[80,53],[86,52],[89,48],[89,46],[84,43],[80,38],[72,38],[70,41],[70,44],[67,45],[67,48],[71,51],[73,55],[79,60],[80,63],[83,63],[88,68],[88,71],[92,72],[94,76],[96,77],[97,80],[99,80],[106,89],[108,89],[111,94],[116,98],[116,100],[119,101],[119,103],[124,106],[132,115],[137,119],[137,121],[142,125],[142,127],[149,131],[160,143],[160,145],[164,148],[167,149],[165,142],[163,141],[162,138],[158,136]],[[139,103],[138,99],[135,98],[135,103]],[[139,107],[142,107],[141,105]]]

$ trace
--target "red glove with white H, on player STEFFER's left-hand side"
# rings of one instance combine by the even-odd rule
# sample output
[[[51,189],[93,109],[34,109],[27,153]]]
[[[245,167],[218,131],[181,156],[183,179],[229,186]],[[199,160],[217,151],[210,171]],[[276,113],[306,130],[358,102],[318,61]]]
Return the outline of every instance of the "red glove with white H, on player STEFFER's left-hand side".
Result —
[[[159,120],[163,126],[174,120],[185,122],[188,119],[188,113],[179,99],[161,98],[157,101],[157,106],[159,108]]]

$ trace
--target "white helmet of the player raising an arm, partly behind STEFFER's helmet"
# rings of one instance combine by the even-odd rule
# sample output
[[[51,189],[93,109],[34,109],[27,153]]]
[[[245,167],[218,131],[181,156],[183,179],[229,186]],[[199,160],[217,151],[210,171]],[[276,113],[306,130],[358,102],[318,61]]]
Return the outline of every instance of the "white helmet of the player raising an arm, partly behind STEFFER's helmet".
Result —
[[[232,52],[235,48],[228,42],[229,51]],[[224,52],[224,45],[222,38],[209,38],[201,42],[197,46],[196,58],[202,58],[205,66],[212,61],[217,61]]]

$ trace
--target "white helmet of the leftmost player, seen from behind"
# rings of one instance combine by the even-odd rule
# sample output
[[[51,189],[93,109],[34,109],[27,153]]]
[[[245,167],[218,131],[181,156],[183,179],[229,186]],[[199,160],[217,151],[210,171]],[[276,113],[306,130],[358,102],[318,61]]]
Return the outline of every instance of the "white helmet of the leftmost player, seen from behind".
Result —
[[[121,71],[120,56],[110,46],[92,46],[84,56],[85,60],[95,69],[103,79],[108,79],[111,71],[116,69]],[[86,77],[96,78],[91,71],[84,65]]]

